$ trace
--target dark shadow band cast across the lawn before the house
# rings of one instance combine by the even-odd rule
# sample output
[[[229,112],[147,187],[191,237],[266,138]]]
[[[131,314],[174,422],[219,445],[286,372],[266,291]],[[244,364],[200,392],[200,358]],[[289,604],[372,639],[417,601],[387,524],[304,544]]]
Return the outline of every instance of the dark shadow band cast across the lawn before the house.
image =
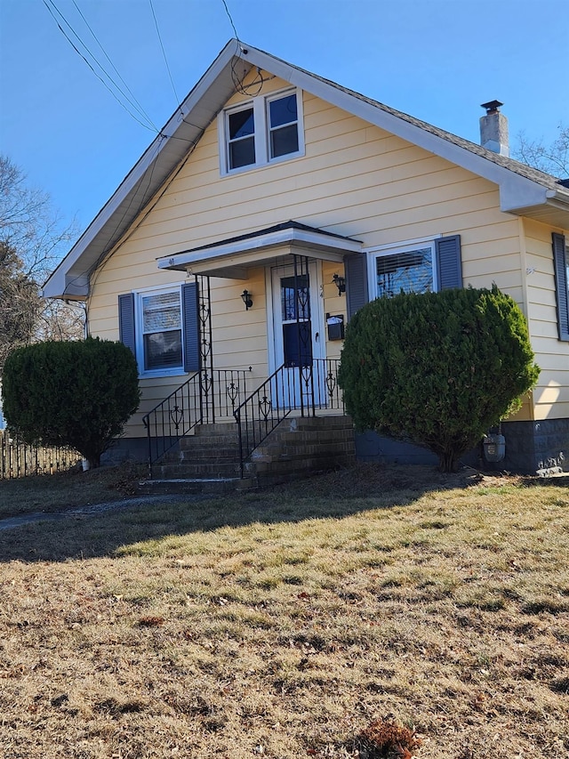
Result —
[[[101,510],[93,506],[91,513],[68,512],[57,519],[45,515],[45,521],[0,531],[0,561],[113,557],[121,546],[168,536],[255,523],[342,519],[410,505],[425,493],[466,489],[486,479],[468,468],[442,474],[431,467],[365,464],[223,497],[141,497]],[[519,478],[500,482],[527,484]]]

